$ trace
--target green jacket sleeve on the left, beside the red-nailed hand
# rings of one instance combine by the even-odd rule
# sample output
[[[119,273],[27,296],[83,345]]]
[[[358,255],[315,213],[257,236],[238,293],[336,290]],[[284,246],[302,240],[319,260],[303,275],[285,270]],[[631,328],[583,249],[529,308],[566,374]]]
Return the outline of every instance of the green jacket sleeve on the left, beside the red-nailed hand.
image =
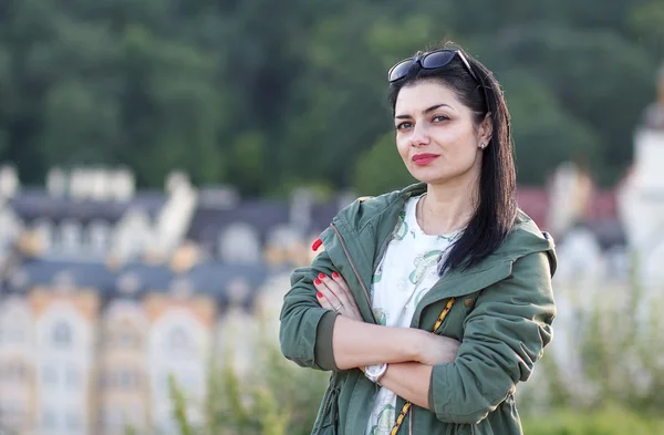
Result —
[[[281,308],[279,341],[283,355],[300,366],[339,370],[332,353],[336,313],[321,308],[313,287],[320,272],[330,276],[333,271],[330,256],[322,251],[310,267],[295,269],[291,275],[291,289]]]

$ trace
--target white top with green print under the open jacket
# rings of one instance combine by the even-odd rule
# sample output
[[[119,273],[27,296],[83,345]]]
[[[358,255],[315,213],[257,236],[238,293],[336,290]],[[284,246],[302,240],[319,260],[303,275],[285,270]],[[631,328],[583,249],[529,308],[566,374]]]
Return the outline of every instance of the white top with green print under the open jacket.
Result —
[[[415,307],[438,281],[438,259],[461,234],[426,235],[417,224],[419,196],[406,201],[385,255],[373,277],[371,298],[380,324],[409,328]],[[396,394],[381,387],[366,426],[366,435],[390,434],[397,410]],[[401,411],[401,410],[398,410]]]

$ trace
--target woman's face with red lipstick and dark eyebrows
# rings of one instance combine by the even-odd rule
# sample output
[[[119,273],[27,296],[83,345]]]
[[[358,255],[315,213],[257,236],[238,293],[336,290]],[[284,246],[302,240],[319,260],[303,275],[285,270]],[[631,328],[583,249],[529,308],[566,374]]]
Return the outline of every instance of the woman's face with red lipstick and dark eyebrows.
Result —
[[[479,183],[487,123],[476,126],[473,113],[444,84],[404,86],[394,108],[396,147],[411,174],[430,185]]]

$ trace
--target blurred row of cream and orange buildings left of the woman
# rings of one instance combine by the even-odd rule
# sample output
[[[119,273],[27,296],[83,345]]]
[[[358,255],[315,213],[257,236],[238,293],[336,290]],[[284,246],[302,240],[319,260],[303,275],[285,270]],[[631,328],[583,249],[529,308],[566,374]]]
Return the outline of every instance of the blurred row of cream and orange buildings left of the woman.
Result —
[[[172,380],[199,420],[210,365],[246,373],[256,312],[278,313],[288,283],[270,277],[308,262],[351,201],[241,198],[181,173],[164,191],[124,169],[46,178],[0,168],[0,433],[174,433]]]

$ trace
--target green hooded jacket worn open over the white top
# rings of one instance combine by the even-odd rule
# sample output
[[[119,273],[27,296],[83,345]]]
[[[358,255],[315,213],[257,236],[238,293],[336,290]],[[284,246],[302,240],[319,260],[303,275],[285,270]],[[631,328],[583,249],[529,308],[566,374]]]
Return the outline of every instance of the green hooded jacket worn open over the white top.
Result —
[[[336,315],[320,307],[313,280],[319,272],[341,273],[364,320],[375,323],[367,294],[373,272],[405,200],[425,189],[417,184],[354,201],[321,235],[325,250],[291,276],[280,317],[281,351],[301,366],[332,371],[313,434],[364,435],[377,391],[360,370],[334,365]],[[411,327],[430,331],[449,298],[456,298],[436,333],[461,345],[454,363],[434,366],[430,411],[413,406],[400,433],[408,433],[409,423],[417,435],[522,433],[515,391],[518,382],[530,377],[552,339],[553,247],[550,237],[519,211],[512,231],[494,253],[469,270],[445,273],[422,299]],[[403,404],[400,397],[397,414]]]

